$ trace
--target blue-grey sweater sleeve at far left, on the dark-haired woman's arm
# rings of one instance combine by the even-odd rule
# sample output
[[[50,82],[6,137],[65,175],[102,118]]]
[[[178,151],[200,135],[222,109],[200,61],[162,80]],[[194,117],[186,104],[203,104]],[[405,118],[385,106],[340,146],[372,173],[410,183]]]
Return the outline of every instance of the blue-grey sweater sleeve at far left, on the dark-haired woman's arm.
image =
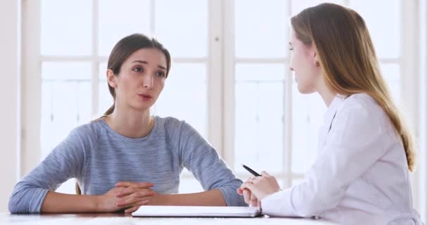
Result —
[[[13,188],[8,209],[11,213],[39,213],[48,191],[70,178],[80,176],[85,150],[91,148],[92,138],[89,125],[73,129],[37,167],[23,177]],[[93,134],[93,133],[92,133]]]

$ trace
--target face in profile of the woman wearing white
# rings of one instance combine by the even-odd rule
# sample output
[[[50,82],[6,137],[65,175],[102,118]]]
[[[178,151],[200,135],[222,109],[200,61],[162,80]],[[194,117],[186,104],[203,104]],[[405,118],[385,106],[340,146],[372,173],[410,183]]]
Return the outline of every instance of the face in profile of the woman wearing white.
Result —
[[[291,31],[290,38],[291,65],[290,70],[294,71],[298,91],[302,94],[310,94],[315,91],[315,84],[321,77],[320,66],[316,65],[315,48],[303,44],[297,39],[294,30]]]

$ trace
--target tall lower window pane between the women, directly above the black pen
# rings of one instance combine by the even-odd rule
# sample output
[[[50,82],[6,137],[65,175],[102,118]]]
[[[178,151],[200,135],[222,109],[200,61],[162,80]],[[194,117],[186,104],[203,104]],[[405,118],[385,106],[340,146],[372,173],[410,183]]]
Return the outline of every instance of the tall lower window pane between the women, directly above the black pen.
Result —
[[[284,65],[239,64],[235,86],[234,169],[254,165],[282,172]]]

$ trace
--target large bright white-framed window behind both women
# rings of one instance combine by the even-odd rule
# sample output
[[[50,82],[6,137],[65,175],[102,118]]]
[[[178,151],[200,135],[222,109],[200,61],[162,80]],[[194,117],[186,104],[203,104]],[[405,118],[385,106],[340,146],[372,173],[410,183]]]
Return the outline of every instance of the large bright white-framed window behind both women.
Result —
[[[189,122],[241,179],[248,177],[241,168],[246,164],[275,174],[283,187],[298,183],[315,157],[326,106],[317,94],[302,95],[296,89],[289,70],[289,18],[320,2],[32,1],[37,7],[27,9],[32,12],[25,27],[32,27],[39,41],[27,40],[25,51],[37,56],[27,60],[41,65],[31,71],[41,81],[41,100],[35,101],[41,114],[27,116],[41,124],[27,132],[41,140],[34,164],[73,127],[101,116],[111,105],[108,54],[120,38],[141,32],[157,37],[173,60],[153,114]],[[404,1],[332,2],[363,15],[384,77],[402,104],[403,79],[411,79],[402,75],[407,53],[401,22]],[[388,13],[377,16],[374,11]],[[189,172],[180,185],[180,192],[201,191]],[[73,181],[61,191],[73,192]]]

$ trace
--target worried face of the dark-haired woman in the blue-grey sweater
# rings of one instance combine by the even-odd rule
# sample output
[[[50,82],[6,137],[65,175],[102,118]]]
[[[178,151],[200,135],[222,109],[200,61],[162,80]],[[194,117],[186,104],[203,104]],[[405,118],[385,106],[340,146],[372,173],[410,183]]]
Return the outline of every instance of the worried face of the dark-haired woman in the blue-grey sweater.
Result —
[[[163,90],[167,74],[165,54],[158,49],[139,49],[128,57],[119,75],[108,70],[108,84],[115,89],[115,104],[146,110]]]

